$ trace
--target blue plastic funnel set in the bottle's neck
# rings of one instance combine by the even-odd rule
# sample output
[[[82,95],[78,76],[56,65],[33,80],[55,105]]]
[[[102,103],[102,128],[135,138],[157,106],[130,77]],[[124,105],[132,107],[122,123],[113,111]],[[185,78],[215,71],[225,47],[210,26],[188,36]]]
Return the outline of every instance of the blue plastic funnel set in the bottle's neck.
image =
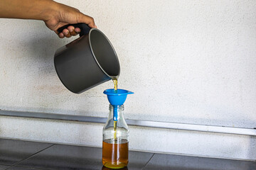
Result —
[[[127,95],[134,94],[134,92],[123,89],[117,89],[117,93],[114,93],[114,89],[107,89],[103,92],[103,94],[107,94],[108,101],[114,107],[113,119],[114,121],[117,121],[117,106],[123,105],[124,101],[127,98]]]

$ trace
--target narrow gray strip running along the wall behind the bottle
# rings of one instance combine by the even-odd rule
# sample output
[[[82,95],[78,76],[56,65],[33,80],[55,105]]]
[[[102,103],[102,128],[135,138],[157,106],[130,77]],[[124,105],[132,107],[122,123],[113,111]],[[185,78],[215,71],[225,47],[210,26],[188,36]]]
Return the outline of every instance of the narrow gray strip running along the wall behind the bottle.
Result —
[[[85,123],[105,123],[107,118],[83,116],[83,115],[63,115],[53,113],[36,113],[36,112],[21,112],[21,111],[3,111],[0,110],[0,115],[12,116],[19,118],[41,118],[50,120],[65,120],[65,121],[76,121]],[[256,129],[250,128],[233,128],[225,126],[213,126],[213,125],[195,125],[186,123],[168,123],[168,122],[157,122],[149,120],[131,120],[127,119],[128,125],[141,126],[148,128],[164,128],[174,130],[191,130],[198,132],[217,132],[225,134],[235,135],[250,135],[256,136]]]

